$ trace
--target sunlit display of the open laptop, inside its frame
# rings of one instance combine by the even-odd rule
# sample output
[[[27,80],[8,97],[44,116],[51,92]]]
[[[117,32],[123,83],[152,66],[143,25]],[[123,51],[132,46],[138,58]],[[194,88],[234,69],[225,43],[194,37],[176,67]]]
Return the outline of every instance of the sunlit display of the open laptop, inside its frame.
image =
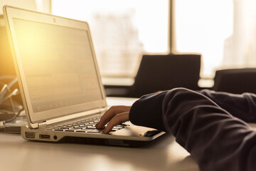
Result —
[[[13,21],[33,113],[102,100],[88,31]]]

